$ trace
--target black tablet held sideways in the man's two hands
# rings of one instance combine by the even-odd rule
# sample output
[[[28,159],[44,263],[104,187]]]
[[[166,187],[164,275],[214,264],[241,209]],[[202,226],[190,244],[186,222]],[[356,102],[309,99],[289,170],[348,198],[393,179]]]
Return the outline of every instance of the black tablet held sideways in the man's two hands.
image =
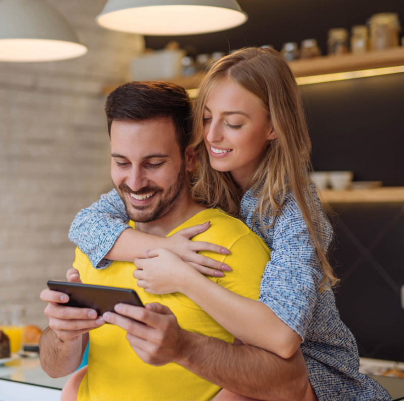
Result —
[[[136,292],[129,288],[95,286],[56,280],[50,280],[48,287],[50,290],[59,291],[69,296],[69,302],[60,305],[95,309],[99,316],[105,312],[114,312],[113,307],[118,303],[143,306]]]

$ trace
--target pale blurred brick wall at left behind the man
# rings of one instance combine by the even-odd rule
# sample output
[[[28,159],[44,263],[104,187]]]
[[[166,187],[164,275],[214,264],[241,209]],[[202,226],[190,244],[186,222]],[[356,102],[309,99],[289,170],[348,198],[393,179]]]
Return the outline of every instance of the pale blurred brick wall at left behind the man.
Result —
[[[43,1],[89,48],[73,60],[0,63],[0,305],[24,305],[44,329],[39,293],[71,267],[70,223],[112,188],[101,89],[129,80],[144,39],[96,25],[106,0]]]

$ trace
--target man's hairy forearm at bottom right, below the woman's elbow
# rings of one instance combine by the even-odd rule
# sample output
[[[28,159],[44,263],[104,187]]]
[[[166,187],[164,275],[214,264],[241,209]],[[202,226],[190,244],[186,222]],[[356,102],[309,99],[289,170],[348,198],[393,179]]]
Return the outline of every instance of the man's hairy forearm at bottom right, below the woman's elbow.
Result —
[[[300,349],[289,359],[250,345],[236,346],[185,332],[176,362],[234,393],[267,401],[301,400],[308,385]]]

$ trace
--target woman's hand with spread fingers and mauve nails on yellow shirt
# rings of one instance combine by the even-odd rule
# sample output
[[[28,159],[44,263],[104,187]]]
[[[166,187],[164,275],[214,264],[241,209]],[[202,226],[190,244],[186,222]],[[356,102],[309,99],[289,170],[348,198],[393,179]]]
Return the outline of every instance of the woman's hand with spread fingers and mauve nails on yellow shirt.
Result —
[[[225,263],[208,258],[204,255],[199,255],[197,252],[211,251],[222,255],[228,255],[230,251],[219,245],[190,240],[191,237],[206,231],[209,227],[210,221],[189,228],[183,228],[165,239],[165,248],[180,256],[184,262],[194,267],[200,273],[220,277],[223,274],[218,275],[218,273],[220,273],[218,270],[231,271],[231,268]]]

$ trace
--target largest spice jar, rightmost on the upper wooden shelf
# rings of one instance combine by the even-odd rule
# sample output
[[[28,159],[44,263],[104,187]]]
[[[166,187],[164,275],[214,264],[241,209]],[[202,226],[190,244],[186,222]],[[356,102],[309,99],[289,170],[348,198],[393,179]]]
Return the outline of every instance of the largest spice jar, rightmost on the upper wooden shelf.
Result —
[[[372,50],[383,50],[398,46],[401,30],[397,13],[373,14],[368,20]]]

